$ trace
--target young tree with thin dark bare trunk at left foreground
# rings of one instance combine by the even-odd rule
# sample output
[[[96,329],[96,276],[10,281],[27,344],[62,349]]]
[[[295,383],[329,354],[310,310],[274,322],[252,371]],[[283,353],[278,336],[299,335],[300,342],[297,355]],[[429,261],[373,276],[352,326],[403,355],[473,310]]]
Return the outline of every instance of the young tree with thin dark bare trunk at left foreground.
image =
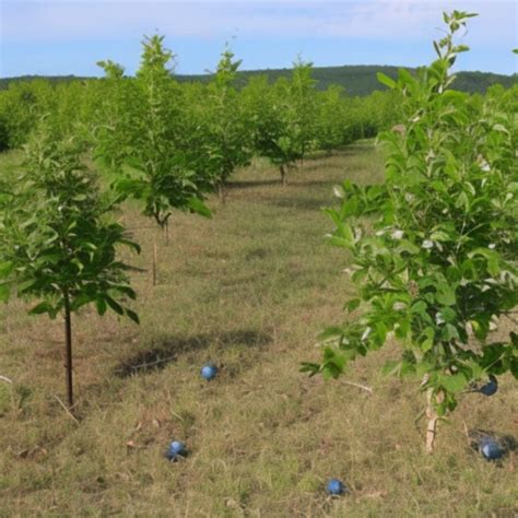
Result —
[[[117,250],[139,247],[111,220],[114,200],[99,193],[73,138],[58,141],[43,129],[26,151],[26,173],[0,196],[0,298],[15,290],[37,301],[31,314],[63,315],[72,409],[72,314],[94,303],[99,315],[111,309],[138,322],[123,302],[136,294]]]

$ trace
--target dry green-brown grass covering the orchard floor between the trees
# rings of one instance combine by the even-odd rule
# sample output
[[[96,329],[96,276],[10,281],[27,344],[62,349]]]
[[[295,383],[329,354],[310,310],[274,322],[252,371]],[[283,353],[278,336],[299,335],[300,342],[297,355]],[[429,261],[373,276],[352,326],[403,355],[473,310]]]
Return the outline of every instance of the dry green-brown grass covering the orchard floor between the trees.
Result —
[[[2,156],[13,166],[16,155]],[[280,186],[257,161],[239,172],[212,220],[179,214],[170,243],[134,207],[121,217],[158,285],[136,273],[140,327],[84,310],[73,322],[74,422],[63,398],[62,322],[0,308],[0,516],[515,517],[514,454],[502,464],[471,450],[464,422],[517,435],[510,376],[492,398],[467,396],[423,454],[419,384],[379,374],[396,345],[339,381],[298,373],[319,358],[315,337],[343,318],[348,257],[325,242],[344,177],[380,178],[368,143],[305,163]],[[204,382],[207,361],[221,366]],[[373,393],[348,385],[372,387]],[[163,452],[184,440],[189,457]],[[342,479],[351,494],[323,491]]]

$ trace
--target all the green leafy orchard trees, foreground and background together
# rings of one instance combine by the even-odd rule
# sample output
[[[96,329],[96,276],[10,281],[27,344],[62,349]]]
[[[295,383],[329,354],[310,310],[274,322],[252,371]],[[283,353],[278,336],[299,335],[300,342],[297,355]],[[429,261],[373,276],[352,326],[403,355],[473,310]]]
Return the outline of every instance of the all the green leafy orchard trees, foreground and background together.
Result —
[[[416,76],[380,75],[390,93],[364,99],[337,87],[317,93],[302,61],[290,80],[255,78],[238,91],[229,50],[208,85],[180,85],[158,36],[144,40],[136,78],[103,61],[102,81],[17,84],[2,94],[7,145],[30,137],[24,173],[0,178],[0,297],[15,291],[37,299],[33,313],[64,315],[70,407],[71,314],[93,303],[99,315],[111,309],[138,321],[127,307],[129,267],[117,259],[120,246],[139,250],[114,219],[121,201],[139,200],[167,228],[174,210],[209,216],[204,195],[223,193],[255,154],[278,165],[285,183],[308,152],[393,122],[402,123],[381,136],[385,184],[346,180],[337,189],[342,205],[329,211],[332,242],[352,255],[361,284],[348,307],[362,315],[327,331],[322,363],[304,368],[337,377],[396,337],[403,354],[387,369],[423,379],[429,450],[437,419],[459,393],[484,376],[518,376],[516,333],[490,333],[518,305],[518,87],[495,86],[484,97],[449,90],[450,67],[467,50],[454,35],[468,17],[445,14],[437,60]],[[83,165],[90,150],[113,179],[107,192]]]

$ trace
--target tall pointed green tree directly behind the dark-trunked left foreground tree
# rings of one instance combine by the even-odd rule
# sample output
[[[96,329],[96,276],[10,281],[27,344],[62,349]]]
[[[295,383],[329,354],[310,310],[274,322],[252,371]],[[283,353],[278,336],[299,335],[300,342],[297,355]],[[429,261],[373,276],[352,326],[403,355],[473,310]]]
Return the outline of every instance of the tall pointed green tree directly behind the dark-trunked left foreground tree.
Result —
[[[210,215],[201,201],[210,183],[189,161],[189,154],[178,145],[178,114],[176,83],[167,64],[173,52],[164,48],[163,36],[152,36],[143,42],[140,69],[137,72],[137,93],[125,103],[129,122],[123,122],[116,141],[128,143],[120,155],[111,153],[101,139],[98,153],[116,156],[116,189],[123,197],[141,200],[144,214],[165,228],[174,209]],[[120,70],[107,62],[108,79],[120,81]],[[117,103],[117,101],[115,101]],[[117,107],[113,107],[114,111]],[[120,109],[118,110],[120,114]]]

